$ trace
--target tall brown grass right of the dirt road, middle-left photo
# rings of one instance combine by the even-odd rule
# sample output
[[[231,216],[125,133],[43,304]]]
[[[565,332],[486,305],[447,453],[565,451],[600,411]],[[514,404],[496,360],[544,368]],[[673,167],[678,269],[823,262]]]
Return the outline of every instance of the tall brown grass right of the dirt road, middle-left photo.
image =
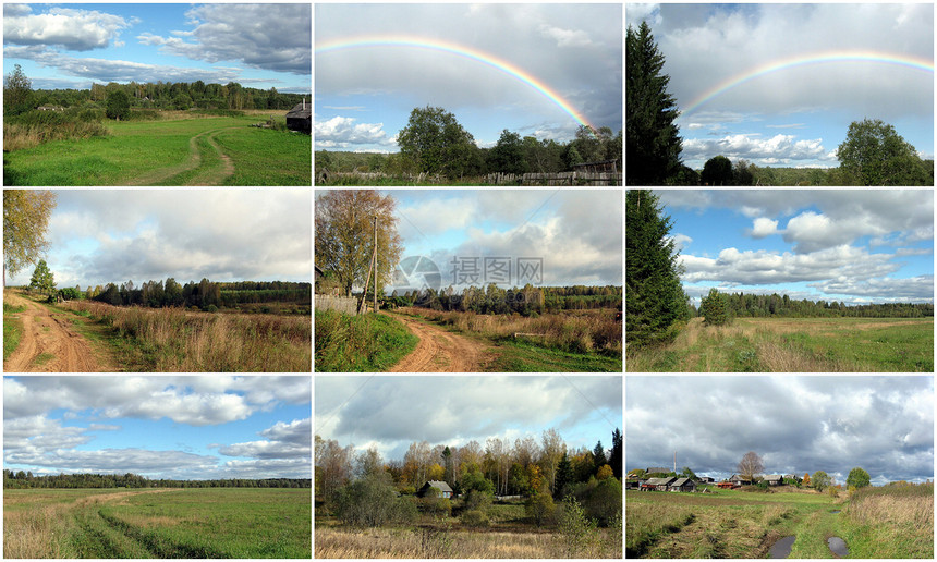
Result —
[[[308,317],[191,313],[181,308],[118,307],[72,301],[73,310],[101,319],[130,337],[147,370],[276,371],[312,370]]]

